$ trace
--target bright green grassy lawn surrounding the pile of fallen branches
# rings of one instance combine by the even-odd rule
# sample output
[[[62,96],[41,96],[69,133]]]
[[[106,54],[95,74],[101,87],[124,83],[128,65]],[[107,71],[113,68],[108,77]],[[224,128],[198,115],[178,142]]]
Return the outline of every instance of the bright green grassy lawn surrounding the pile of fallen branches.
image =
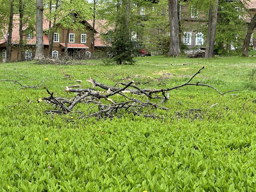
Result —
[[[152,111],[163,119],[125,113],[113,120],[77,119],[69,113],[52,120],[44,110],[53,107],[37,102],[48,96],[44,86],[54,95],[74,96],[64,87],[77,83],[64,78],[60,67],[85,88],[89,77],[164,88],[185,83],[202,66],[193,82],[239,91],[170,91],[163,104],[169,110]],[[0,79],[40,86],[19,89],[0,82],[0,191],[256,191],[256,77],[250,80],[255,68],[254,57],[155,56],[138,58],[133,66],[0,64]],[[88,108],[78,104],[75,110]],[[195,108],[202,111],[189,111]]]

